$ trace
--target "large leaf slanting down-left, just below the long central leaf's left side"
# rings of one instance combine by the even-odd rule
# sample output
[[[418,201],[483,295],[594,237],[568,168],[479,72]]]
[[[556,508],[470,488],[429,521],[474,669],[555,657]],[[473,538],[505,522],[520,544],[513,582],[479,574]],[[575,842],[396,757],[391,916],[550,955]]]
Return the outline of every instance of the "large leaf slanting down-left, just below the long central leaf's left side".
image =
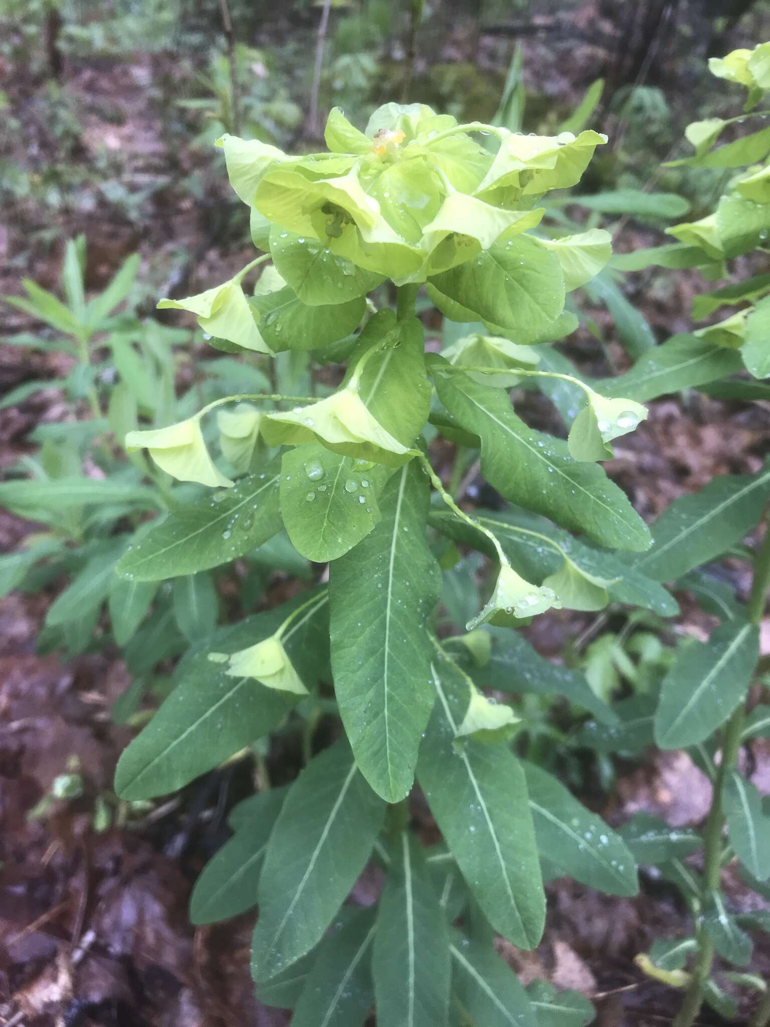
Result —
[[[344,739],[311,760],[292,785],[260,877],[252,948],[257,982],[320,940],[363,870],[384,814],[385,803]]]

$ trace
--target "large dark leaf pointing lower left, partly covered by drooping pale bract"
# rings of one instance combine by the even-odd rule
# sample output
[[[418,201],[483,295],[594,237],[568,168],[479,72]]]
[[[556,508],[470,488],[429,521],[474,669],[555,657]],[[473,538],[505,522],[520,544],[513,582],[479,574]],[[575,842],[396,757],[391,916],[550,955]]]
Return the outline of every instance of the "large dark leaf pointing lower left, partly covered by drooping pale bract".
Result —
[[[268,638],[287,614],[306,602],[301,596],[268,613],[249,617],[214,636],[225,651]],[[283,635],[293,661],[306,682],[326,659],[325,595]],[[167,632],[166,632],[167,634]],[[139,636],[138,636],[139,637]],[[265,688],[251,677],[232,678],[205,652],[185,661],[180,683],[153,719],[123,752],[115,771],[115,790],[123,798],[149,799],[183,788],[256,738],[271,731],[297,703],[298,696]]]

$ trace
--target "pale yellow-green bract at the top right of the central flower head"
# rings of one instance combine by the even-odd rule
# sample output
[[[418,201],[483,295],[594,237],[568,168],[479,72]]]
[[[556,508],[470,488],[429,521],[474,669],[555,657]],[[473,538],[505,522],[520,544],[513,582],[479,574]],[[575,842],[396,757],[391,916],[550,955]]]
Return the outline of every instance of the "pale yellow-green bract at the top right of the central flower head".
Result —
[[[476,192],[508,189],[515,195],[537,195],[566,189],[580,181],[598,146],[607,142],[600,132],[571,131],[559,136],[511,132],[500,144],[492,166]]]

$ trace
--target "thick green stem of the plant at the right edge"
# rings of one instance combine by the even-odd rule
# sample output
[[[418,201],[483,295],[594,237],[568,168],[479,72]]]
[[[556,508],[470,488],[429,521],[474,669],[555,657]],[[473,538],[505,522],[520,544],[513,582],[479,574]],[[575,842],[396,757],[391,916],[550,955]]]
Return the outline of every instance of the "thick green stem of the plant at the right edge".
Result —
[[[767,593],[770,587],[770,524],[765,529],[765,537],[755,557],[752,593],[746,604],[746,618],[754,624],[762,621],[765,612]],[[725,727],[722,738],[722,759],[717,769],[714,782],[711,808],[708,811],[705,830],[703,831],[703,891],[716,891],[720,885],[722,870],[722,831],[725,817],[722,811],[722,786],[730,770],[733,770],[738,760],[740,738],[743,731],[745,707],[741,703]],[[685,995],[685,1001],[679,1016],[673,1021],[673,1027],[692,1027],[703,998],[703,986],[711,973],[714,962],[714,946],[702,926],[696,931],[698,941],[698,958],[692,975],[690,987]],[[765,1002],[763,1001],[763,1005]],[[762,1010],[762,1005],[760,1006]],[[758,1011],[759,1014],[760,1011]],[[766,1010],[766,1019],[756,1020],[753,1027],[765,1027],[770,1019],[770,1006]]]

